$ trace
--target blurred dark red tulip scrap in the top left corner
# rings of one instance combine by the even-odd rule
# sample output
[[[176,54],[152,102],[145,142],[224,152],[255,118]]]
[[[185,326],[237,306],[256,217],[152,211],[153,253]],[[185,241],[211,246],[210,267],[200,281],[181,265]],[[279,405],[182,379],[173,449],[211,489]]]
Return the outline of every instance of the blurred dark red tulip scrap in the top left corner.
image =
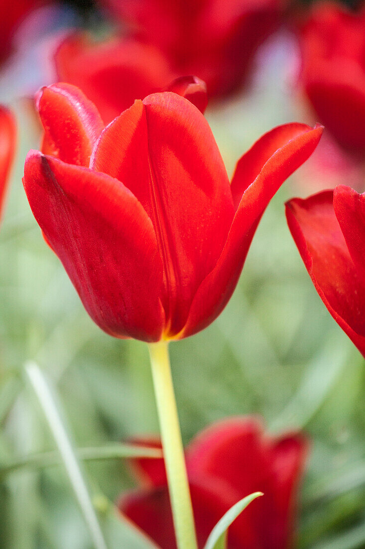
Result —
[[[0,62],[12,51],[14,33],[26,16],[47,0],[15,0],[0,2]]]

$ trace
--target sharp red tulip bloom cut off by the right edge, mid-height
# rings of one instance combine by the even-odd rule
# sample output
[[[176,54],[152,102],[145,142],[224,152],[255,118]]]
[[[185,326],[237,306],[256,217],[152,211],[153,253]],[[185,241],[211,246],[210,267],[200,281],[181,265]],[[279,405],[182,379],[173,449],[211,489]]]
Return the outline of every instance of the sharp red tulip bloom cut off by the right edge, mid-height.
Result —
[[[339,185],[286,206],[290,231],[318,294],[365,356],[365,195]]]

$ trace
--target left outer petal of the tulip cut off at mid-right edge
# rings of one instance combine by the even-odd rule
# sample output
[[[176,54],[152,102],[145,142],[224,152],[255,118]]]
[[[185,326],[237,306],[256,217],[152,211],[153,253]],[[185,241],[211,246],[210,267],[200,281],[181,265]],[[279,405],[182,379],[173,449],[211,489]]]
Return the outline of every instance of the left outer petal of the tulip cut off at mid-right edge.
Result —
[[[290,232],[324,305],[365,356],[365,285],[333,210],[333,192],[287,203]]]

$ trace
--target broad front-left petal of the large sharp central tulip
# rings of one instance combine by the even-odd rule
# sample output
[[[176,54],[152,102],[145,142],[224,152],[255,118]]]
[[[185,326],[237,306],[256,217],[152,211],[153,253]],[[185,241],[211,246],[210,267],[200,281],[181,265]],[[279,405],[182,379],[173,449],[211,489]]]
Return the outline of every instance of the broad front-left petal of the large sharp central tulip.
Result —
[[[157,341],[161,261],[138,200],[103,173],[31,152],[24,186],[33,214],[93,320],[116,337]]]

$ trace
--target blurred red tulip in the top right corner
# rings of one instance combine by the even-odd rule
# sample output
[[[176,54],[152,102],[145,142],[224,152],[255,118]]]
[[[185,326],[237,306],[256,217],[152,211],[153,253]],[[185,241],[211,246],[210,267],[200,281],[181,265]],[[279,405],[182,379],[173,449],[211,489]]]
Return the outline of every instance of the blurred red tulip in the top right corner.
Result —
[[[346,149],[365,154],[365,10],[315,5],[301,33],[303,86],[317,117]]]

